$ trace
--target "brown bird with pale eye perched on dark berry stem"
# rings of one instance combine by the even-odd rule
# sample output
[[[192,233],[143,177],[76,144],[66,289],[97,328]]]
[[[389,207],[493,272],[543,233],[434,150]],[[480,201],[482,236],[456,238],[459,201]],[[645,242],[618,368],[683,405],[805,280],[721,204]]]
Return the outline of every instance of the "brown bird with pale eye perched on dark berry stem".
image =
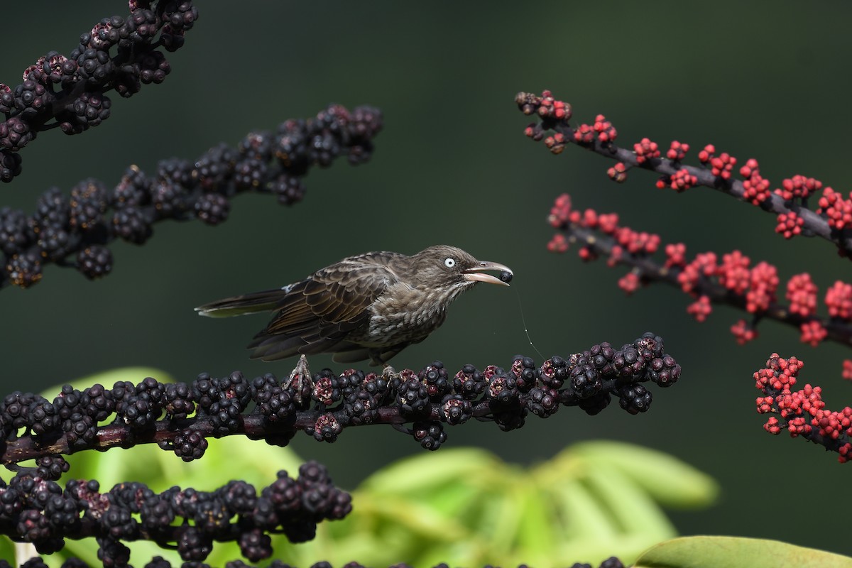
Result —
[[[500,276],[485,271],[499,271]],[[438,329],[446,308],[463,291],[477,282],[509,285],[512,276],[509,267],[477,261],[447,245],[412,256],[368,252],[282,288],[213,301],[195,310],[212,318],[273,312],[249,345],[251,359],[334,353],[338,363],[371,359],[371,364],[387,364]]]

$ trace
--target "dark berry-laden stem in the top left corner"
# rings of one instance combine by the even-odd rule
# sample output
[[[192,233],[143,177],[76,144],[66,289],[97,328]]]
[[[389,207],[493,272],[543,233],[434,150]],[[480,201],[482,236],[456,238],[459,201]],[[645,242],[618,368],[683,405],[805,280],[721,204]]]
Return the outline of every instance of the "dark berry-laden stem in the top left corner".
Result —
[[[38,132],[59,127],[67,135],[110,116],[115,90],[122,97],[142,84],[163,83],[170,72],[163,51],[181,48],[199,18],[189,0],[133,0],[127,17],[104,18],[79,37],[67,55],[51,51],[23,72],[23,83],[0,83],[0,181],[20,174],[20,151]]]

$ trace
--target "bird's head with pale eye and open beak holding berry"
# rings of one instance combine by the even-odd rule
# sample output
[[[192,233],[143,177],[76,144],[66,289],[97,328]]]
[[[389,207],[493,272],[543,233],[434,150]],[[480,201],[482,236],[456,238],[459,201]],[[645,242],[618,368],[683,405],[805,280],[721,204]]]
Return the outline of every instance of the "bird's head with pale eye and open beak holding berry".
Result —
[[[423,287],[466,290],[477,282],[508,286],[511,268],[499,262],[477,261],[454,246],[439,244],[421,250],[411,257],[415,281]],[[499,272],[499,277],[487,271]]]

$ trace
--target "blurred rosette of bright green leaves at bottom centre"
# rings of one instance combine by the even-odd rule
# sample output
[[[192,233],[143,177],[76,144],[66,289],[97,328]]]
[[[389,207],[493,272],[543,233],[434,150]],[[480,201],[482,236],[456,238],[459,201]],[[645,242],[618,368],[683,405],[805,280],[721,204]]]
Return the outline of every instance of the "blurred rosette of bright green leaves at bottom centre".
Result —
[[[651,475],[664,482],[667,475],[680,475],[699,491],[678,482],[678,498],[672,499],[659,480],[645,479]],[[434,565],[432,559],[447,558],[458,565],[571,565],[612,554],[633,559],[676,535],[660,501],[695,506],[712,495],[715,484],[694,468],[626,444],[574,445],[534,468],[484,450],[440,450],[401,460],[367,479],[354,493],[353,513],[332,530],[341,557],[326,559],[332,564],[352,559],[343,557],[345,545],[337,540],[352,531],[382,542],[360,559],[368,565],[403,560]],[[412,515],[426,520],[425,526]],[[546,558],[538,556],[541,542],[555,543]]]

